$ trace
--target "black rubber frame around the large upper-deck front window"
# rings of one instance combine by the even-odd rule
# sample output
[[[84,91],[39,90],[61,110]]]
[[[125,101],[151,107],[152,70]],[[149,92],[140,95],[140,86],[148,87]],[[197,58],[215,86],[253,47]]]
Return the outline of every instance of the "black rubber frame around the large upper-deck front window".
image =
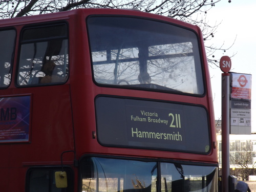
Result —
[[[200,69],[201,69],[201,75],[202,75],[202,86],[203,86],[203,93],[202,94],[192,94],[192,93],[186,93],[186,92],[179,92],[178,90],[175,91],[169,91],[169,90],[160,90],[160,89],[147,89],[147,88],[138,88],[135,86],[116,86],[115,84],[103,84],[103,83],[99,83],[95,80],[95,76],[94,76],[94,70],[93,70],[93,58],[92,58],[92,50],[91,50],[91,42],[90,42],[90,37],[89,37],[89,26],[88,26],[88,22],[87,20],[90,17],[124,17],[124,18],[138,18],[138,19],[144,19],[144,20],[150,20],[153,22],[159,22],[159,23],[163,23],[163,24],[168,24],[168,25],[173,25],[175,27],[179,27],[188,31],[193,32],[196,37],[197,37],[197,46],[198,46],[198,52],[199,52],[199,60],[200,60]],[[182,25],[178,25],[172,22],[168,22],[166,20],[159,20],[156,18],[150,18],[150,17],[142,17],[142,16],[135,16],[135,15],[105,15],[105,14],[92,14],[87,16],[86,18],[86,27],[87,27],[87,38],[88,38],[88,43],[89,43],[89,50],[90,50],[90,62],[91,62],[91,70],[92,70],[92,79],[93,82],[98,86],[98,87],[106,87],[106,88],[117,88],[117,89],[129,89],[129,90],[140,90],[140,91],[150,91],[150,92],[160,92],[160,93],[169,93],[169,94],[179,94],[179,95],[187,95],[187,96],[194,96],[194,97],[205,97],[205,95],[207,94],[207,84],[206,84],[206,74],[205,74],[205,67],[204,67],[204,59],[203,59],[203,53],[202,53],[202,44],[203,42],[201,42],[201,38],[200,38],[200,34],[198,34],[197,31],[191,29],[191,28],[187,28],[184,27]],[[196,63],[196,60],[195,60]],[[206,65],[208,65],[206,63]],[[196,76],[196,80],[198,81],[198,76]]]

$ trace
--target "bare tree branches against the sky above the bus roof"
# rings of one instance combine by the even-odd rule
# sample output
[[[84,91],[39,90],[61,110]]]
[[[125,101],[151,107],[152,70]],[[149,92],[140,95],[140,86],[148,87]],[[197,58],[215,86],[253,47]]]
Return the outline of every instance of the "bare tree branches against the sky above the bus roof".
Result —
[[[77,8],[138,9],[161,14],[198,25],[205,40],[214,37],[218,25],[209,26],[206,13],[221,0],[0,0],[0,18],[21,17],[67,11]],[[231,1],[229,1],[231,2]],[[230,47],[229,47],[230,48]],[[216,51],[225,51],[224,45],[207,45],[208,62],[216,65]],[[211,56],[209,56],[211,55]]]

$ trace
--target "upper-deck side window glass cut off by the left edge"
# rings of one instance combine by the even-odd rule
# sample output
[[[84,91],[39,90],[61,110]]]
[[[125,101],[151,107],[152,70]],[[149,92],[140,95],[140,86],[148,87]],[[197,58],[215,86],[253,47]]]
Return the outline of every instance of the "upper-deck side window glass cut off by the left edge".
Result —
[[[11,82],[11,69],[15,47],[15,30],[0,31],[0,89]]]

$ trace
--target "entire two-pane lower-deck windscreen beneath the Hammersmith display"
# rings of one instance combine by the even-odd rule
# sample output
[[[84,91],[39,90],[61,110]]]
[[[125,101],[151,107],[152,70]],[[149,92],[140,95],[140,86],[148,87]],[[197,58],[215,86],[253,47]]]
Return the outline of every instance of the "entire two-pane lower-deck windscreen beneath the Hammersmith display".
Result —
[[[83,192],[217,191],[214,166],[160,163],[158,184],[158,165],[157,162],[86,158],[82,161],[81,188]]]

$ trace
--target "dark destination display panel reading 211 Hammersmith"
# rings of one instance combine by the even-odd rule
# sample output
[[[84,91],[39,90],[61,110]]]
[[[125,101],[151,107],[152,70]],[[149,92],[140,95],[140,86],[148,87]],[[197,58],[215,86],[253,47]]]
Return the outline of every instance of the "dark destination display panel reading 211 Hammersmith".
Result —
[[[201,106],[98,97],[96,119],[102,145],[209,152],[207,113]]]

